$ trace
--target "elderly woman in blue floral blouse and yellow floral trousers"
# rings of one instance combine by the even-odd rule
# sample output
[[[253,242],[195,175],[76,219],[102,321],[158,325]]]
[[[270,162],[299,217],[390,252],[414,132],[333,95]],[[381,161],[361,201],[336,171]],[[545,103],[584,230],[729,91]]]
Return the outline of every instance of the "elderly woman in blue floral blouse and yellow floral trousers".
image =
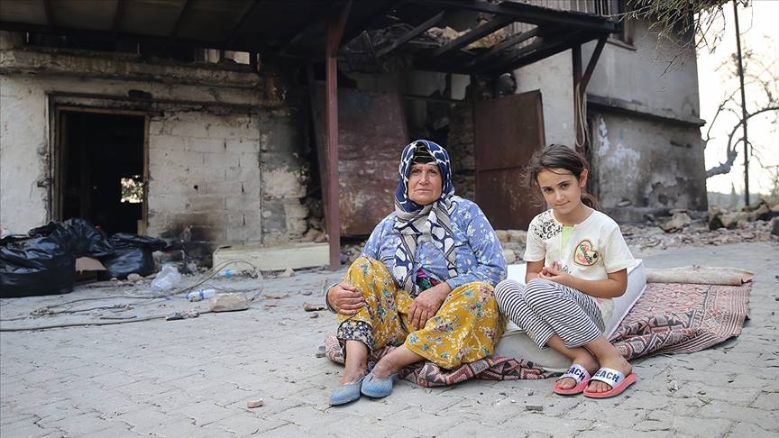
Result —
[[[419,360],[451,370],[490,356],[505,328],[492,291],[506,259],[479,206],[454,196],[449,154],[414,141],[399,171],[395,211],[325,297],[345,357],[333,406],[388,396],[399,371]],[[372,351],[389,345],[397,348],[369,373]]]

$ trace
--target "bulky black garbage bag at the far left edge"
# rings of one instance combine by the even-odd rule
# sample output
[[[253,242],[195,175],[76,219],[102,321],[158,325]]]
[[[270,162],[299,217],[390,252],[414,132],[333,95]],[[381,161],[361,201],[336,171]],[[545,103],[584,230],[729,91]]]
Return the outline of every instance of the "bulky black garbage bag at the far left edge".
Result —
[[[0,239],[0,297],[67,294],[75,284],[75,242],[63,224]]]

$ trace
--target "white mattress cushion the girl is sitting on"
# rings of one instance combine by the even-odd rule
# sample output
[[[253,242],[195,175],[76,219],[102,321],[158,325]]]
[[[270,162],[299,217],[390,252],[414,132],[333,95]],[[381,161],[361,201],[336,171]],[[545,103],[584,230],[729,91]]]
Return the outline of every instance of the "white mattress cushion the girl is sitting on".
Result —
[[[526,263],[509,265],[508,278],[517,280],[524,285],[526,269]],[[607,338],[617,330],[622,319],[628,315],[630,309],[644,293],[644,289],[646,289],[646,267],[643,260],[637,259],[636,264],[628,268],[628,288],[625,290],[625,294],[622,297],[614,298],[614,314],[606,323],[606,332],[604,333]],[[527,336],[527,333],[512,322],[509,322],[506,332],[500,337],[493,356],[530,360],[550,371],[564,371],[571,366],[571,360],[563,354],[551,348],[546,350],[538,348],[536,343]]]

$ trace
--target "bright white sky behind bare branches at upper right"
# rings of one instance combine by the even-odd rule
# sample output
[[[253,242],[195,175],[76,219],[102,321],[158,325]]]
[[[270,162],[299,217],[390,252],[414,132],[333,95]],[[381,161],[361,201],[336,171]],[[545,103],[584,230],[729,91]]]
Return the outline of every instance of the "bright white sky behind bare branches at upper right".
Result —
[[[745,48],[752,49],[763,58],[765,66],[773,69],[774,75],[779,76],[779,1],[776,0],[752,0],[749,7],[738,6],[738,25],[741,32],[742,52]],[[718,30],[722,40],[716,46],[713,53],[705,48],[698,52],[698,82],[701,102],[701,118],[707,121],[701,128],[701,136],[705,139],[709,130],[709,123],[714,119],[719,104],[724,96],[733,91],[738,91],[738,78],[727,79],[727,72],[719,68],[723,61],[736,53],[736,25],[733,20],[733,5],[729,3],[724,7],[725,18],[719,21]],[[719,68],[719,69],[718,69]],[[735,67],[733,67],[735,68]],[[731,69],[733,69],[731,68]],[[779,85],[774,85],[774,93]],[[747,86],[748,89],[748,86]],[[755,108],[759,103],[760,95],[747,94],[747,111]],[[762,100],[765,101],[765,94]],[[740,105],[740,95],[737,94],[737,103]],[[728,133],[738,123],[737,119],[720,119],[720,115],[710,132],[713,138],[706,147],[706,169],[711,169],[727,159],[726,145]],[[727,122],[727,123],[726,123]],[[738,137],[741,131],[738,131]],[[752,142],[756,153],[760,155],[763,166],[774,166],[774,173],[779,171],[779,127],[768,123],[768,117],[753,117],[747,123],[747,136]],[[737,137],[737,138],[738,138]],[[743,197],[744,194],[744,146],[739,143],[738,158],[729,174],[719,175],[707,179],[706,186],[710,192],[730,193],[731,184],[736,193]],[[756,159],[750,158],[749,162],[749,192],[751,194],[767,194],[772,184],[771,171],[762,169]]]

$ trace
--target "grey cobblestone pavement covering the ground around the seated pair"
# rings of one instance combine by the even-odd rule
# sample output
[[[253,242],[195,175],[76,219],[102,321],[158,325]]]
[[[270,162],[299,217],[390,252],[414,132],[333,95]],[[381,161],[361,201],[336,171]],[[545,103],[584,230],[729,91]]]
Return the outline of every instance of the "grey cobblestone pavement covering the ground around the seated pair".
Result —
[[[261,290],[261,296],[246,311],[176,321],[161,316],[197,303],[144,298],[148,285],[79,286],[65,296],[0,302],[0,434],[777,436],[777,243],[633,251],[647,268],[699,264],[755,272],[744,331],[705,351],[633,360],[637,383],[610,399],[556,396],[552,379],[471,380],[445,388],[404,380],[389,397],[331,407],[328,396],[343,368],[316,352],[335,315],[303,306],[324,303],[325,285],[342,279],[345,269],[269,278],[264,287],[259,279],[211,279],[223,291],[253,297]],[[289,297],[265,298],[285,293]],[[128,304],[132,308],[125,310]],[[101,308],[106,306],[115,308]],[[41,316],[31,315],[41,308]],[[73,312],[78,309],[88,310]],[[137,322],[94,325],[131,316],[124,321]],[[64,324],[74,326],[24,330]],[[263,406],[247,407],[259,399]]]

